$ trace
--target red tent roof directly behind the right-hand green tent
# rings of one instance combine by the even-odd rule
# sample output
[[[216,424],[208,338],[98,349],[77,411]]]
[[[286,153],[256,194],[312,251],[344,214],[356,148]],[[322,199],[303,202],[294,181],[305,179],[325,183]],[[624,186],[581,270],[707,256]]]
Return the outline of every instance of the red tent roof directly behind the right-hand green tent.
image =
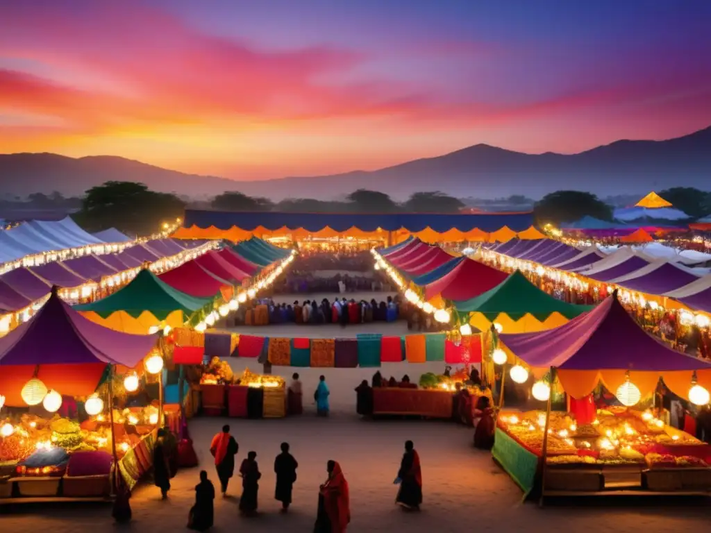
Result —
[[[424,299],[432,300],[441,296],[445,300],[469,300],[493,289],[506,279],[506,276],[506,272],[467,258],[448,274],[426,285]]]

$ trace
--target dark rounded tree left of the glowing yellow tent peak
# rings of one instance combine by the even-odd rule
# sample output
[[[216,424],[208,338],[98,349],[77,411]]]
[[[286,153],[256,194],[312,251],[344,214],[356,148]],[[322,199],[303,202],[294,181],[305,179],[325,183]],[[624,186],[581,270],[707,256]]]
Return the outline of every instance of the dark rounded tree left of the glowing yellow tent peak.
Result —
[[[533,214],[539,225],[561,222],[575,222],[584,216],[600,220],[612,220],[609,205],[592,193],[580,190],[557,190],[545,195],[533,208]]]

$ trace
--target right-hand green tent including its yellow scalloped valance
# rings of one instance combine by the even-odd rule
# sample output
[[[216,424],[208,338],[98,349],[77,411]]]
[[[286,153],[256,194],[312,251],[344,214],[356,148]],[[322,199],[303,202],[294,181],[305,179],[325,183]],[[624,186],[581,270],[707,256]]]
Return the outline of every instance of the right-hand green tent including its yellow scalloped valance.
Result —
[[[488,330],[496,322],[506,333],[555,328],[592,309],[592,306],[577,306],[550,296],[519,270],[479,296],[454,301],[454,307],[460,315],[469,316],[469,323],[479,330]]]

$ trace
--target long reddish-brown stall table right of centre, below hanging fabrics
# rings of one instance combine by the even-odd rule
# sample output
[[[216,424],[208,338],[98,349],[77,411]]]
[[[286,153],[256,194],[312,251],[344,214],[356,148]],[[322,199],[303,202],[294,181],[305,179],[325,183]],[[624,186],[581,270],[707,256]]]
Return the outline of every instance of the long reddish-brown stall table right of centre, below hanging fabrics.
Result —
[[[430,389],[401,389],[400,387],[375,387],[373,389],[373,415],[397,414],[451,419],[452,394]]]

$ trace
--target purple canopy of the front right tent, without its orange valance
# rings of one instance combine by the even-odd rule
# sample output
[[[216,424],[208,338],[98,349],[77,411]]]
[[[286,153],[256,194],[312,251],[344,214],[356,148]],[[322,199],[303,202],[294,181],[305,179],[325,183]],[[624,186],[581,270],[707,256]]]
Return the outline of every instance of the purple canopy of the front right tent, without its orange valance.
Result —
[[[676,352],[646,333],[615,294],[558,328],[500,338],[531,367],[661,372],[711,369],[711,364]]]

